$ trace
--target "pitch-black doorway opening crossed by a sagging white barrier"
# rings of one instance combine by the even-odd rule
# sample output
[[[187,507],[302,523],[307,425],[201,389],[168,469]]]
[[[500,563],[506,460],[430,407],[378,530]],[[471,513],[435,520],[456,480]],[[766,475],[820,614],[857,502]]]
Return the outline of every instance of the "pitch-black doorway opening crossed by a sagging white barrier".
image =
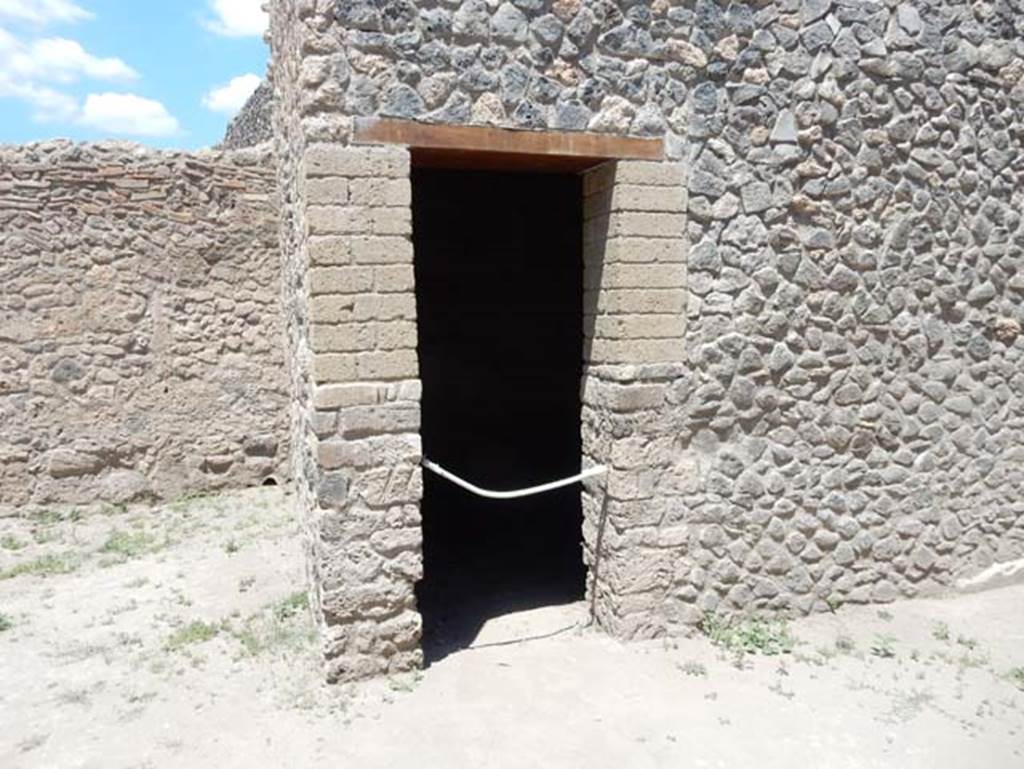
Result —
[[[424,455],[487,488],[580,471],[579,176],[414,168]],[[489,618],[579,600],[580,487],[486,500],[424,471],[427,663]]]

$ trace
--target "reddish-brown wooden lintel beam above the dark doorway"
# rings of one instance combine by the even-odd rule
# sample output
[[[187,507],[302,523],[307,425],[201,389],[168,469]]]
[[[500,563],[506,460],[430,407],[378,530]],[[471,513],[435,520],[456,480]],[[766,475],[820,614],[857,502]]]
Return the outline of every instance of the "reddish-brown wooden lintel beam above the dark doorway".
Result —
[[[357,144],[540,155],[604,160],[663,160],[662,139],[582,131],[528,131],[492,126],[451,126],[388,118],[356,118]]]

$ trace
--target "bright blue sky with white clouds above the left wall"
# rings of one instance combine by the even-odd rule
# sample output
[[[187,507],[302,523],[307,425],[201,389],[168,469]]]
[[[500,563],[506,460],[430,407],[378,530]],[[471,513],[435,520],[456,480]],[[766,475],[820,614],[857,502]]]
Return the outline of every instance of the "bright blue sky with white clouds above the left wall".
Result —
[[[0,0],[0,143],[216,143],[265,74],[262,0]]]

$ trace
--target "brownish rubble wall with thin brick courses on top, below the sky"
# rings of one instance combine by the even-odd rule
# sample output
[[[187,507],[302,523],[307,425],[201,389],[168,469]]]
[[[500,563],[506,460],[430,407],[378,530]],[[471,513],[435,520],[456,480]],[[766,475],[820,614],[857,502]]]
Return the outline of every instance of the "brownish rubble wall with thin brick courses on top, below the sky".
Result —
[[[0,506],[288,475],[267,148],[0,147]]]

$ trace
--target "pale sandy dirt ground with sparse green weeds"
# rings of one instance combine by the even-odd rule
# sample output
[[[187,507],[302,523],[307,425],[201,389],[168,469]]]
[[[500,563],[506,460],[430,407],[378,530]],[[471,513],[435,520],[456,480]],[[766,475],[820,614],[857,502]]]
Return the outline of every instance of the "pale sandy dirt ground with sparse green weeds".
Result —
[[[0,766],[1024,767],[1024,586],[838,607],[776,655],[737,647],[779,628],[624,645],[550,607],[328,687],[291,511],[0,518]]]

